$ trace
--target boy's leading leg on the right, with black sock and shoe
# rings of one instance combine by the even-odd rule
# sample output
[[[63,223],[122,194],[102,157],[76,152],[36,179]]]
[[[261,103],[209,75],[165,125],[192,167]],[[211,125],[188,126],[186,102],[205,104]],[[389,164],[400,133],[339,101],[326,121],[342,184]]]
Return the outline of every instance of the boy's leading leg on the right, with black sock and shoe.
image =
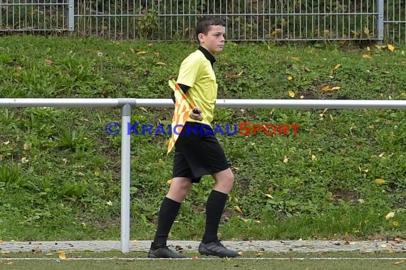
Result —
[[[238,253],[224,247],[217,237],[220,220],[226,205],[228,194],[234,185],[234,175],[230,168],[213,175],[216,184],[207,199],[206,227],[199,252],[218,257],[237,257]]]

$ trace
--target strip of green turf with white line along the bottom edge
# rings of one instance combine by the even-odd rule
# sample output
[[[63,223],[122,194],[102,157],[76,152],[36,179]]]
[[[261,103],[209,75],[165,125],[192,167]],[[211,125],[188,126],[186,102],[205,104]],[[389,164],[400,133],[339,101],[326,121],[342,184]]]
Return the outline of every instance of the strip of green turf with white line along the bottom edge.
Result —
[[[188,254],[192,261],[152,259],[146,260],[145,253],[118,254],[67,253],[66,259],[59,259],[58,253],[49,254],[7,254],[1,256],[6,269],[400,269],[405,265],[403,254],[378,253],[247,253],[241,259],[202,258]],[[31,259],[30,259],[31,258]],[[127,259],[126,259],[127,258]],[[351,258],[351,259],[348,259]],[[385,258],[385,259],[384,259]],[[397,259],[399,258],[399,259]],[[42,259],[42,260],[38,260]]]

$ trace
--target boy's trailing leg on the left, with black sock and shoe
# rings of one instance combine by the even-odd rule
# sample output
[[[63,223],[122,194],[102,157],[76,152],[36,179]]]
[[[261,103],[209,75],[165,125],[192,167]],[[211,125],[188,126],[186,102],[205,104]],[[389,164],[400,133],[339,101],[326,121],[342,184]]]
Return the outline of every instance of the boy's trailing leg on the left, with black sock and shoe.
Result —
[[[175,222],[180,205],[192,186],[190,178],[173,178],[170,190],[162,200],[158,215],[158,226],[155,232],[154,242],[151,244],[148,257],[150,258],[184,258],[184,256],[172,252],[167,248],[167,237]]]

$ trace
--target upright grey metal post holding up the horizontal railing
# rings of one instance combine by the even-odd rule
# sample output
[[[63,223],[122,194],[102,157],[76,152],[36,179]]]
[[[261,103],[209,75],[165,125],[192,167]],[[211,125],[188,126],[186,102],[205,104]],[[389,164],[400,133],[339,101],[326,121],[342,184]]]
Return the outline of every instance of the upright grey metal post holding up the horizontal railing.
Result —
[[[131,106],[121,109],[121,252],[130,252],[130,147],[131,136],[127,123],[131,121]]]

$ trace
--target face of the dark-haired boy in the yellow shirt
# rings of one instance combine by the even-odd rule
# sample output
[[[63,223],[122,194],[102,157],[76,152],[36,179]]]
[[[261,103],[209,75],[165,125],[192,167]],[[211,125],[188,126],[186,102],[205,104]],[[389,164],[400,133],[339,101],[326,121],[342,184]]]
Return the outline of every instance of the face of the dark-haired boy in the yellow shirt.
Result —
[[[224,42],[226,39],[226,28],[224,26],[211,26],[206,35],[199,33],[200,45],[208,50],[210,53],[220,53],[223,50]]]

